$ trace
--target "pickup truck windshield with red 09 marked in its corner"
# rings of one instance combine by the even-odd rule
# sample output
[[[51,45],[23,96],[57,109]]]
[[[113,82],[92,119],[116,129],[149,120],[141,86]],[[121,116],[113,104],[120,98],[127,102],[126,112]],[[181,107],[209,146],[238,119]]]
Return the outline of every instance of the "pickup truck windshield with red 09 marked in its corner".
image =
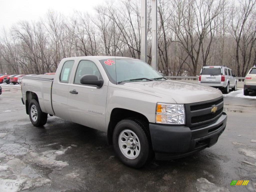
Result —
[[[110,58],[100,60],[112,83],[147,81],[163,76],[147,63],[138,59]]]

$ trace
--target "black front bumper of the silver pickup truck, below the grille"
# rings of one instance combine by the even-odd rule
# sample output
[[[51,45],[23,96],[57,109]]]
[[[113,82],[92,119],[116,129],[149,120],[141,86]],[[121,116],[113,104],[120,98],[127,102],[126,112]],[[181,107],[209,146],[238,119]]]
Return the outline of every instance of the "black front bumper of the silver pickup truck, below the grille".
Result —
[[[150,123],[149,129],[156,159],[181,158],[214,145],[227,124],[227,114],[203,127],[190,129],[185,125]]]

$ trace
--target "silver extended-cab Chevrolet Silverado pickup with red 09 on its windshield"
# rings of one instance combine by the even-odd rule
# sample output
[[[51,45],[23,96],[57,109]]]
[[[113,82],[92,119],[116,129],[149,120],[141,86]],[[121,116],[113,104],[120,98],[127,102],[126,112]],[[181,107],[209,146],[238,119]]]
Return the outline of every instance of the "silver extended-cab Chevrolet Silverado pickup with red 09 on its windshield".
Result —
[[[62,59],[55,75],[24,76],[22,102],[34,126],[48,114],[107,133],[131,167],[214,145],[225,130],[221,91],[165,79],[133,58]]]

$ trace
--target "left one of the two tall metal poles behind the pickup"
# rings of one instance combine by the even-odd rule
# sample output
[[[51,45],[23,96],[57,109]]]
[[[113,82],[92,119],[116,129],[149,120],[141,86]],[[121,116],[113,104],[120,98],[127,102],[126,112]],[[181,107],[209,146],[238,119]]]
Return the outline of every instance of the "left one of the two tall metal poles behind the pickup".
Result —
[[[147,0],[141,0],[141,60],[147,62]]]

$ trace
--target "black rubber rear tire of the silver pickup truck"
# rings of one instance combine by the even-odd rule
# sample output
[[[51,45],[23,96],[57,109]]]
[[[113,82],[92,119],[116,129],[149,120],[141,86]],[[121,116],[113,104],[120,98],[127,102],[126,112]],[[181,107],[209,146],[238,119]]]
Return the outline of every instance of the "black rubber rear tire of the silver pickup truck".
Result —
[[[32,118],[32,116],[33,116],[33,114],[31,113],[32,106],[33,107],[35,106],[35,108],[37,110],[37,119],[36,120],[33,120],[33,118]],[[35,99],[32,99],[30,101],[28,113],[29,113],[29,119],[34,126],[40,127],[40,126],[43,126],[46,124],[48,114],[41,111],[41,108]]]

